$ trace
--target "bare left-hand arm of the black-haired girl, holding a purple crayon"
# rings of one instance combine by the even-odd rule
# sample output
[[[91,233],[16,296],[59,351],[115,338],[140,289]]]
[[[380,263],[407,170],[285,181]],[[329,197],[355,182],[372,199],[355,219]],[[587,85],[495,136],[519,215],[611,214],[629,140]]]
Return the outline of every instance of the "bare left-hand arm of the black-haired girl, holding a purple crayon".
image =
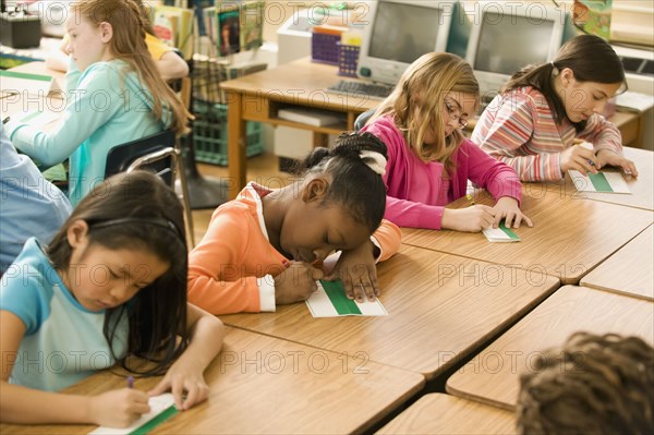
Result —
[[[130,425],[149,412],[147,395],[122,388],[86,397],[40,391],[10,384],[25,324],[15,314],[0,310],[0,421],[5,423],[90,423],[113,427]],[[20,370],[20,367],[17,367]]]

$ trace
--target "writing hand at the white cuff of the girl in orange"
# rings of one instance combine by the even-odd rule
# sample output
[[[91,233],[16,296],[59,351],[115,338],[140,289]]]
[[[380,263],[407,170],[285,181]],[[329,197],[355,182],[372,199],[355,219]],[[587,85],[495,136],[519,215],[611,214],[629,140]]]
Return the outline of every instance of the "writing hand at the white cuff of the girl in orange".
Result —
[[[316,279],[323,270],[302,262],[292,262],[289,268],[275,277],[275,303],[284,305],[305,301],[317,289]]]

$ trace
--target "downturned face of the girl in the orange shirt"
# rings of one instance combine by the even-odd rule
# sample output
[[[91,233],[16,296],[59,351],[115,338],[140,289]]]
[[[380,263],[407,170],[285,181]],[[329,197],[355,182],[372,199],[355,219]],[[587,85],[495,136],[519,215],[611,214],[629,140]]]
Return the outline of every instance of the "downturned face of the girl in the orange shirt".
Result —
[[[298,262],[323,261],[335,251],[360,246],[371,237],[367,226],[358,222],[342,205],[319,206],[319,201],[298,200],[287,212],[279,243]]]

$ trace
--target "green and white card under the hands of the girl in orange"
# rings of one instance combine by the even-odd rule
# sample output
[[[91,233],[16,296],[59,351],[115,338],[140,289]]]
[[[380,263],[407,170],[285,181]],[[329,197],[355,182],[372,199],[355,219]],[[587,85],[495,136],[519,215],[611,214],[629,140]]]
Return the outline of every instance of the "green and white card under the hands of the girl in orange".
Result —
[[[306,300],[306,306],[314,317],[339,316],[387,316],[388,312],[375,298],[375,301],[356,302],[348,299],[340,280],[316,281],[318,290]]]

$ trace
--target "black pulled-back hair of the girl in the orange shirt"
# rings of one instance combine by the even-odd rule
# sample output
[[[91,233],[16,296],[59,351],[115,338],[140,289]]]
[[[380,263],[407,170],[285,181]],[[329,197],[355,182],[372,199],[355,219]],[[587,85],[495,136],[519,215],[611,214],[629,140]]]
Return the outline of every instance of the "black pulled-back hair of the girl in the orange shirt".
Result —
[[[342,133],[331,149],[315,148],[300,165],[305,174],[326,172],[332,181],[323,205],[343,204],[350,216],[374,232],[386,209],[386,185],[374,161],[362,152],[380,154],[386,159],[386,145],[372,133]]]

